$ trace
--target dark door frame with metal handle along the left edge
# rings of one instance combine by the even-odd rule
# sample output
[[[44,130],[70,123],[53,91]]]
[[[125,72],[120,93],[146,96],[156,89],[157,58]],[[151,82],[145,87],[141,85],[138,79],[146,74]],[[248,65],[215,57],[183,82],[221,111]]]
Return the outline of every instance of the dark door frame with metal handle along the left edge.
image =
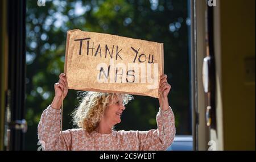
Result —
[[[0,149],[23,150],[26,68],[26,1],[1,1]]]

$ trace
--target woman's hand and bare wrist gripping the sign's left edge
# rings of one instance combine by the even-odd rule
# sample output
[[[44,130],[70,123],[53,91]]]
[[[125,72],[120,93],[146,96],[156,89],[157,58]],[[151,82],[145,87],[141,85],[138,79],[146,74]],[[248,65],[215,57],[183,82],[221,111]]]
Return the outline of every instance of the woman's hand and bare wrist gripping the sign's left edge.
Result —
[[[61,73],[59,76],[60,80],[54,84],[55,97],[53,98],[51,107],[53,109],[60,109],[61,101],[62,101],[62,93],[63,99],[68,94],[68,82],[67,76],[64,73]]]

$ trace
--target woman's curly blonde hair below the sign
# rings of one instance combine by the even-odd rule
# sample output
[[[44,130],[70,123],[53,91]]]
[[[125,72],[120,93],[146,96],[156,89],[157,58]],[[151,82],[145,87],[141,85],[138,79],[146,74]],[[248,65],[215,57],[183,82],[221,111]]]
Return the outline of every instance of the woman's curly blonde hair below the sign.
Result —
[[[129,94],[80,92],[80,104],[72,113],[73,123],[87,132],[94,131],[100,123],[105,109],[115,97],[122,98],[126,105],[133,97]]]

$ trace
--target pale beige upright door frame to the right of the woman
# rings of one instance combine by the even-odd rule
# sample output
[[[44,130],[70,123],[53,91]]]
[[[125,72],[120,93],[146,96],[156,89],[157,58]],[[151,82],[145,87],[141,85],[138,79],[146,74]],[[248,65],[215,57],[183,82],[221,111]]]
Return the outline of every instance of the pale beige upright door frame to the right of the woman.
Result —
[[[207,99],[203,88],[203,59],[207,53],[207,1],[191,0],[191,106],[194,150],[208,150],[209,127],[205,114]]]

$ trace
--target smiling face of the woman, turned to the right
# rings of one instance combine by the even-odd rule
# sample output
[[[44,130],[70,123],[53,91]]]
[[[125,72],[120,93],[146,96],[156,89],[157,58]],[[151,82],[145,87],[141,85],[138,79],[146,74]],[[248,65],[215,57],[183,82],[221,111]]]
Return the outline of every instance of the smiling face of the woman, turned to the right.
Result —
[[[125,110],[122,102],[121,97],[114,97],[113,101],[110,101],[109,106],[105,109],[104,118],[113,126],[121,122],[121,115]]]

